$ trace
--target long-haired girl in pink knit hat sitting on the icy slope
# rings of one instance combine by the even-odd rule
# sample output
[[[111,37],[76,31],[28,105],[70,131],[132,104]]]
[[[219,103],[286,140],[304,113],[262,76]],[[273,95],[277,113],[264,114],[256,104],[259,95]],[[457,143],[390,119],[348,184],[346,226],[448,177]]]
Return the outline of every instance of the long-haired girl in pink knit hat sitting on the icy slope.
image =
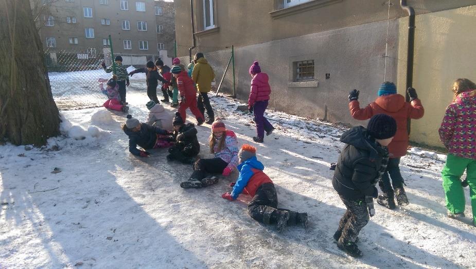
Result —
[[[238,165],[238,140],[233,131],[226,130],[225,123],[216,118],[211,124],[211,135],[208,139],[210,153],[215,158],[199,159],[193,166],[193,173],[189,180],[180,183],[182,188],[201,188],[218,182],[218,177],[207,176],[208,173],[221,173],[224,176]]]

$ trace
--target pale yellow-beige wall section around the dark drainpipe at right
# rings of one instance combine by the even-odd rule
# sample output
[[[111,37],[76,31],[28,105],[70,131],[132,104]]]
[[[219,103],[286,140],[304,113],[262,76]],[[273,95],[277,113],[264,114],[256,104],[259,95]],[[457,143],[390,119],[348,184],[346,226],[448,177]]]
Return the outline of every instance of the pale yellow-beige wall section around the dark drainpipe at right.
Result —
[[[451,102],[457,78],[476,81],[476,6],[417,15],[413,87],[425,116],[412,120],[412,141],[442,147],[438,128]],[[398,91],[404,94],[407,71],[408,19],[400,19]]]

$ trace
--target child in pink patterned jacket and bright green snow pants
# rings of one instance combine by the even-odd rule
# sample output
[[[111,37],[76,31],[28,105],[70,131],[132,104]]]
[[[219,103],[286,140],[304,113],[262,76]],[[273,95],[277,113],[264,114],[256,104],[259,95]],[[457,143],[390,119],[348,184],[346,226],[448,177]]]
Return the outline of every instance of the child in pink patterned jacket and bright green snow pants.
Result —
[[[465,217],[465,195],[461,176],[466,170],[473,225],[476,226],[476,84],[457,79],[453,85],[454,99],[446,109],[439,128],[439,137],[448,149],[442,171],[448,217]]]

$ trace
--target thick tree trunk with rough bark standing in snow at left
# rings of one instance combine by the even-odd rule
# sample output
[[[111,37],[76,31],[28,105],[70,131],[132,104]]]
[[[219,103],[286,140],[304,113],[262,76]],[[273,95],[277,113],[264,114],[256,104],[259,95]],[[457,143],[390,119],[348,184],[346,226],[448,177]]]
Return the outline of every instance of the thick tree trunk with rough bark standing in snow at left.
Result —
[[[45,145],[60,118],[28,0],[0,0],[0,38],[0,140]]]

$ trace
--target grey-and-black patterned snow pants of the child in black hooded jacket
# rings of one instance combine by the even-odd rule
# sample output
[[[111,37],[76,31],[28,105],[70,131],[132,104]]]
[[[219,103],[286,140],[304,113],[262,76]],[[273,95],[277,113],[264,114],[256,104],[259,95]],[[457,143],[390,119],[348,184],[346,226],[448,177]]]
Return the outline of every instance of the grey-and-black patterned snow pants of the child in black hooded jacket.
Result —
[[[370,219],[368,215],[365,197],[357,200],[349,200],[339,195],[347,210],[339,221],[338,231],[342,232],[344,242],[355,242],[360,230],[367,225]]]

